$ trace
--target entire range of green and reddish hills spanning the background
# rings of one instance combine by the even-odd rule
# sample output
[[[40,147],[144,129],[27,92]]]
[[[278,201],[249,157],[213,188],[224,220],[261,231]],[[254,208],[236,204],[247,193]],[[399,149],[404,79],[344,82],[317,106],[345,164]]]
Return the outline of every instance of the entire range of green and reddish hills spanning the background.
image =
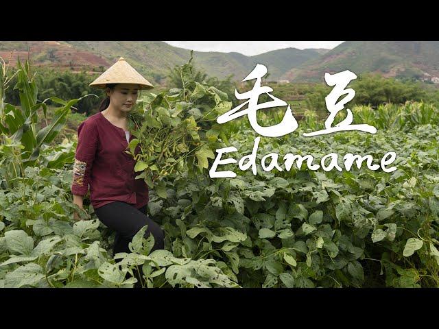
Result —
[[[11,51],[14,50],[11,57]],[[0,56],[11,65],[30,51],[36,66],[73,72],[100,73],[119,57],[154,84],[163,84],[169,70],[189,60],[190,51],[164,41],[1,41]],[[232,75],[241,81],[256,64],[265,64],[265,80],[324,82],[324,73],[346,69],[357,75],[377,73],[439,84],[438,41],[346,41],[334,49],[285,48],[246,56],[232,51],[194,51],[195,67],[209,76]]]

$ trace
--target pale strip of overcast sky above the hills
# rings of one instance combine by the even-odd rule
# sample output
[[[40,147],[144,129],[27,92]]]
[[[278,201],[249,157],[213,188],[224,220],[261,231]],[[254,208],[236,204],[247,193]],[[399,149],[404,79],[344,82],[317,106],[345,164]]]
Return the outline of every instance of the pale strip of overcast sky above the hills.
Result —
[[[343,41],[165,41],[174,47],[195,51],[219,51],[230,53],[236,51],[246,56],[254,56],[267,51],[285,49],[325,48],[333,49]]]

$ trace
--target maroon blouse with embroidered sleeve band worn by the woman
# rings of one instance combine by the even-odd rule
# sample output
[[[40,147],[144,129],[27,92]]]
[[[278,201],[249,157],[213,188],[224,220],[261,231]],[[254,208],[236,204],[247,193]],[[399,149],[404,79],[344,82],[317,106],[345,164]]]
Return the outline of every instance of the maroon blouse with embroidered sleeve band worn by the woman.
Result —
[[[130,135],[130,141],[134,136]],[[71,192],[86,195],[90,184],[90,199],[94,209],[110,202],[121,201],[141,208],[148,203],[148,186],[143,179],[136,180],[136,160],[125,153],[128,150],[126,134],[97,112],[78,127],[78,145]],[[141,151],[137,145],[135,154]]]

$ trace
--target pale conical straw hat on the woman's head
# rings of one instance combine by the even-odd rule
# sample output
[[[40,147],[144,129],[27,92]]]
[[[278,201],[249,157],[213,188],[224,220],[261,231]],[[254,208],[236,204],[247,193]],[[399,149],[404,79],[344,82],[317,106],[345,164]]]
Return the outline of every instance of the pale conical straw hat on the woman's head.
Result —
[[[133,67],[122,57],[119,58],[110,69],[99,75],[90,86],[105,88],[106,84],[139,84],[139,88],[141,89],[154,88],[148,80],[134,70]]]

